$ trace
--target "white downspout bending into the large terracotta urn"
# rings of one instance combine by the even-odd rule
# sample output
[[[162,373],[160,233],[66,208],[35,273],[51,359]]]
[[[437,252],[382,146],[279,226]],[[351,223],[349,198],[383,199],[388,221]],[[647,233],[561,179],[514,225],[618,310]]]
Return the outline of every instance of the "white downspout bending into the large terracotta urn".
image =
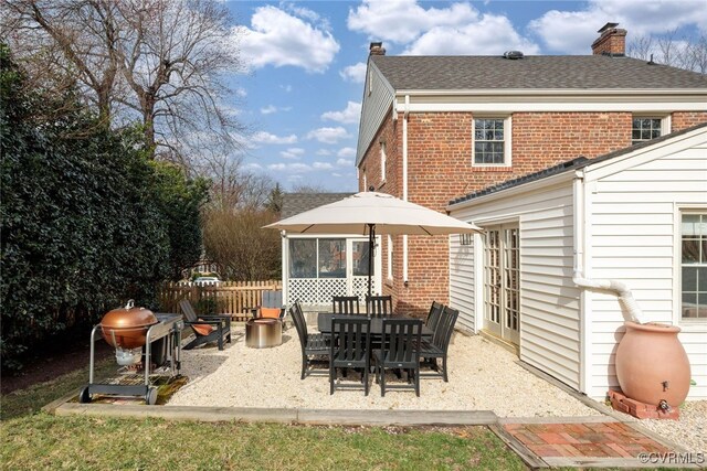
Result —
[[[573,181],[573,200],[574,200],[574,271],[572,281],[580,288],[589,290],[611,291],[619,297],[623,318],[626,321],[645,323],[646,319],[639,308],[631,289],[622,281],[612,279],[591,279],[585,278],[584,274],[584,170],[578,170]],[[584,313],[587,315],[587,313]]]

